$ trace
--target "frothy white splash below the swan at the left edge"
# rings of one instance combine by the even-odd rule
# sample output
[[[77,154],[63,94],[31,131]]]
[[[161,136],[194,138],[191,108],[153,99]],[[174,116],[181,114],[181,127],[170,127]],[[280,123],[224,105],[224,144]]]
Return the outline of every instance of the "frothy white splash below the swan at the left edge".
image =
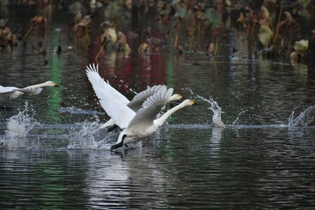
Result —
[[[5,136],[0,139],[3,147],[14,149],[20,146],[21,139],[25,139],[27,134],[39,123],[34,120],[35,111],[29,108],[29,104],[25,102],[25,107],[16,116],[8,118],[7,130]]]

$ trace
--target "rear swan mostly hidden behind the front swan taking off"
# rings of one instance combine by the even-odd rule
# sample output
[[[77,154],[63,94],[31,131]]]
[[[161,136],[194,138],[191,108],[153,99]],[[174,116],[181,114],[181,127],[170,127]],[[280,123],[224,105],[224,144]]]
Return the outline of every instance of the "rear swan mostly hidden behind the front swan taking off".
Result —
[[[167,90],[167,87],[165,85],[154,85],[153,87],[148,87],[148,89],[136,94],[134,98],[132,99],[132,101],[130,102],[123,94],[118,92],[115,88],[111,87],[109,83],[106,83],[104,79],[101,76],[99,76],[98,64],[96,66],[94,64],[90,64],[90,66],[87,66],[86,74],[87,74],[87,78],[90,80],[90,83],[92,84],[94,91],[95,91],[95,88],[102,89],[102,90],[99,90],[98,92],[95,92],[95,94],[97,95],[99,99],[104,99],[107,93],[111,94],[112,97],[114,97],[115,99],[118,99],[120,102],[122,102],[123,104],[128,106],[130,109],[132,109],[132,111],[134,111],[135,113],[139,111],[142,104],[144,104],[144,102],[146,101],[146,99],[148,99],[148,97],[151,97],[151,95],[155,94],[155,92],[158,92],[159,90]],[[103,94],[103,92],[106,92],[106,94]],[[172,97],[169,98],[169,102],[178,101],[181,99],[183,99],[183,97],[180,94],[173,94]],[[103,109],[106,111],[106,108],[103,106],[102,103],[101,105]],[[165,109],[165,106],[162,107],[162,110],[163,109]],[[123,111],[122,111],[122,116],[124,116]],[[130,122],[128,122],[127,120],[122,120],[122,122],[118,126],[124,129],[127,127],[129,123]],[[115,125],[115,123],[111,119],[107,121],[106,123],[104,123],[104,125],[99,127],[99,129],[103,129],[105,127],[107,128],[112,127],[113,125]]]

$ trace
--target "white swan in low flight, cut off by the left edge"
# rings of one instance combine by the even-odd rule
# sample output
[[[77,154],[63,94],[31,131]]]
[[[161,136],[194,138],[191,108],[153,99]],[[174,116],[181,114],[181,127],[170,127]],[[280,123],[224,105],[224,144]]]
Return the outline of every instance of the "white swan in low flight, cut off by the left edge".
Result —
[[[43,91],[43,87],[59,87],[56,83],[52,81],[47,81],[38,85],[31,85],[24,88],[18,87],[3,87],[0,85],[0,101],[5,101],[6,99],[16,99],[22,94],[40,94]]]

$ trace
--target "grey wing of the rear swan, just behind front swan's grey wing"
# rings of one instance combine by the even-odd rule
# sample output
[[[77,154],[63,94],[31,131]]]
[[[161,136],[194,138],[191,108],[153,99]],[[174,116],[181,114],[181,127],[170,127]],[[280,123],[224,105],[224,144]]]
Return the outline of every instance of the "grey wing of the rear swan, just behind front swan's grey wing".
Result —
[[[148,87],[148,89],[136,94],[132,101],[127,104],[127,106],[133,111],[137,112],[141,108],[142,104],[144,104],[146,99],[148,99],[148,97],[151,97],[151,95],[155,94],[155,92],[158,92],[162,89],[166,90],[167,87],[165,85],[154,85],[152,87]]]

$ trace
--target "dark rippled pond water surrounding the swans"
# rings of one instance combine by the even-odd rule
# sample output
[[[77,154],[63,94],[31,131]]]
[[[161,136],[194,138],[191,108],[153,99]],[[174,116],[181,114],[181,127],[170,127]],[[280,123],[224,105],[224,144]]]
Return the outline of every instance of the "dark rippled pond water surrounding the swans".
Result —
[[[42,12],[51,14],[43,39],[48,54],[37,54],[34,37],[12,52],[1,49],[0,84],[24,87],[54,80],[61,87],[1,102],[1,209],[315,207],[314,64],[248,60],[246,35],[233,29],[230,39],[221,43],[216,62],[199,51],[176,55],[169,47],[172,41],[163,38],[153,43],[159,52],[139,55],[144,40],[130,38],[130,57],[99,57],[102,76],[129,98],[132,91],[163,83],[198,106],[174,113],[167,125],[135,148],[111,152],[118,133],[94,132],[106,115],[58,111],[64,100],[102,112],[85,66],[95,62],[104,17],[96,13],[90,45],[84,47],[71,39],[69,11]],[[29,8],[23,16],[7,8],[15,29],[27,26],[37,13]],[[151,25],[159,34],[162,28],[153,20],[120,24],[125,33]],[[61,36],[61,55],[52,52],[57,27],[68,30]],[[69,45],[73,50],[67,50]],[[203,50],[200,46],[196,40],[195,50]],[[235,57],[231,46],[239,49]],[[214,126],[211,99],[221,108],[225,128]],[[297,118],[300,113],[304,117]]]

